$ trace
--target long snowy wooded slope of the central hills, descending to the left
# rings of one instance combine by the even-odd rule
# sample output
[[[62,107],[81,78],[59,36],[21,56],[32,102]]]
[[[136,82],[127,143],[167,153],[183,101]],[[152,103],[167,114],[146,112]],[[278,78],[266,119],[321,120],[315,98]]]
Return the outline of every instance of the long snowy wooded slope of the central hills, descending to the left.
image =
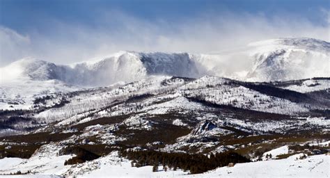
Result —
[[[133,112],[129,106],[123,108],[122,106],[114,105],[109,113],[105,108],[116,104],[116,102],[123,102],[126,99],[129,99],[129,97],[146,94],[157,95],[184,84],[184,81],[179,79],[173,80],[172,83],[168,83],[168,86],[162,86],[162,82],[170,79],[171,76],[150,76],[148,79],[128,83],[119,88],[86,90],[85,92],[81,92],[81,94],[70,97],[70,103],[65,104],[65,106],[51,108],[47,111],[38,113],[36,118],[46,121],[68,119],[67,121],[64,120],[63,122],[58,123],[65,124],[67,122],[79,120],[80,118],[86,118],[90,113],[89,111],[94,111],[96,114],[100,114],[98,115],[99,117],[101,115],[120,115],[127,111]],[[152,102],[150,104],[152,104]],[[148,105],[148,102],[144,105]],[[100,111],[100,113],[97,113],[98,111]]]

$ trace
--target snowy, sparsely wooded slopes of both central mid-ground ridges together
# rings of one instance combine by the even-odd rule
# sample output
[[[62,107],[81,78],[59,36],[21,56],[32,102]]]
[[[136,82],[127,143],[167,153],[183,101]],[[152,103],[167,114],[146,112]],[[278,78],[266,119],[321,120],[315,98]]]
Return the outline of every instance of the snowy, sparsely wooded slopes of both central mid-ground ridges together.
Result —
[[[167,83],[166,83],[167,82]],[[164,84],[166,83],[166,85]],[[184,81],[171,76],[153,76],[119,88],[100,88],[77,92],[68,98],[68,104],[50,108],[35,115],[38,120],[58,122],[58,126],[70,122],[86,122],[93,118],[138,113],[134,115],[162,115],[166,113],[198,113],[207,111],[202,104],[189,99],[201,98],[205,102],[234,106],[236,108],[295,115],[306,113],[309,108],[302,104],[262,94],[256,90],[237,86],[230,79],[203,76],[194,81]],[[118,104],[135,96],[151,95],[141,102]],[[49,102],[51,102],[49,100]],[[111,106],[111,107],[109,107]],[[139,107],[138,107],[139,106]],[[290,107],[288,107],[290,106]],[[94,114],[93,118],[88,115]],[[247,122],[244,122],[246,124]],[[274,124],[274,126],[277,124]],[[282,127],[280,124],[278,127]],[[274,129],[272,127],[272,129]]]

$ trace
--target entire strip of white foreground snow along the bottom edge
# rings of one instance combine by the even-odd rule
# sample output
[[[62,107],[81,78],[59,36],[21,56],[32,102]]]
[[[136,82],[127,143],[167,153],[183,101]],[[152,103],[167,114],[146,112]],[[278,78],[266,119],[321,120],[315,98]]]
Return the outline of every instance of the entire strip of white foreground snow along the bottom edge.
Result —
[[[88,161],[79,165],[52,166],[52,162],[39,167],[44,170],[38,175],[20,175],[13,177],[54,177],[62,175],[65,177],[330,177],[330,156],[326,154],[308,156],[306,159],[299,159],[301,154],[295,154],[288,159],[258,161],[253,163],[237,163],[234,167],[217,168],[209,172],[197,175],[189,175],[189,172],[182,170],[163,170],[159,166],[157,172],[152,172],[152,166],[141,168],[131,167],[130,161],[120,159],[117,152],[104,156],[94,161]],[[6,172],[3,168],[12,170],[24,170],[24,159],[0,159],[0,173]],[[49,169],[42,169],[47,166]],[[63,171],[67,169],[67,171]],[[56,172],[56,170],[58,172]],[[64,172],[64,173],[63,173]],[[4,176],[0,176],[4,177]]]

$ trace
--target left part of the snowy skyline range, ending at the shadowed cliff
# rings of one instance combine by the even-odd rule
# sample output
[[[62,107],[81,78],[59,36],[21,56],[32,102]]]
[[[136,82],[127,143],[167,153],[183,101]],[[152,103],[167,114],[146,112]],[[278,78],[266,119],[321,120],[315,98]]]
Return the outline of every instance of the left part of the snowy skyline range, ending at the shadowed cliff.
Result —
[[[77,86],[109,86],[118,81],[137,81],[150,75],[198,77],[194,60],[187,53],[137,53],[120,51],[96,61],[56,65],[24,58],[0,69],[1,83],[13,80],[46,81],[56,79]]]

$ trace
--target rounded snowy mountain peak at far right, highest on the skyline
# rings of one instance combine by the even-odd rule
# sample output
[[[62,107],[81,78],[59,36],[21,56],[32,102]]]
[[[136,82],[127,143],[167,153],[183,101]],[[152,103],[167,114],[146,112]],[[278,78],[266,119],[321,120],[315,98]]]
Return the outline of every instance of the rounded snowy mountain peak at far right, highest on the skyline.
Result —
[[[285,81],[329,76],[330,43],[313,38],[254,42],[251,81]]]

